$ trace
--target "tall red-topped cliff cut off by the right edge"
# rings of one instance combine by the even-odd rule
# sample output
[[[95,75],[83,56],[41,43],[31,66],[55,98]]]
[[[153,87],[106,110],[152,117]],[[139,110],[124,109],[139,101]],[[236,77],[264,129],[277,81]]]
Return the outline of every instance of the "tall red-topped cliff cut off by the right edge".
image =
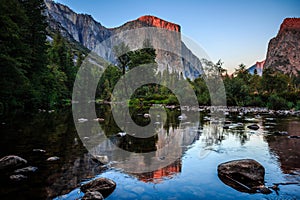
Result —
[[[300,18],[286,18],[270,40],[264,67],[298,75],[300,71]]]

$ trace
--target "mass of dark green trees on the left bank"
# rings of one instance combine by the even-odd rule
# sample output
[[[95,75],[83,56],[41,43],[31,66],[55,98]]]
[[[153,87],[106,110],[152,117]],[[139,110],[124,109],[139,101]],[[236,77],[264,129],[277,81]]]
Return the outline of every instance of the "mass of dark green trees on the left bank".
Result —
[[[43,0],[1,0],[0,104],[6,110],[47,109],[71,97],[75,53],[60,34],[46,42],[44,9]]]

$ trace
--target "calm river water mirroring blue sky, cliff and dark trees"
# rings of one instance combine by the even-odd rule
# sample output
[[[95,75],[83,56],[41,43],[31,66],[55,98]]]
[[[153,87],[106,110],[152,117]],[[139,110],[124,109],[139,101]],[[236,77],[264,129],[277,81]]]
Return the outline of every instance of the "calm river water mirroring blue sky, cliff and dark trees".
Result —
[[[153,158],[167,159],[161,156],[159,146],[172,138],[176,155],[181,156],[164,168],[143,174],[122,170],[124,165],[115,162],[118,154],[114,150],[107,153],[106,166],[92,161],[77,135],[70,112],[2,117],[0,156],[19,155],[38,170],[23,182],[1,179],[1,199],[77,199],[83,195],[78,189],[80,184],[95,177],[107,177],[117,183],[107,199],[300,199],[300,140],[273,134],[287,131],[289,135],[300,135],[299,118],[232,114],[226,117],[233,123],[231,128],[223,129],[223,125],[207,113],[201,113],[198,121],[179,121],[180,111],[169,110],[165,123],[159,119],[150,121],[141,114],[134,112],[134,120],[141,125],[155,123],[157,132],[142,142],[129,135],[117,137],[121,130],[109,109],[98,109],[98,117],[104,118],[104,122],[100,122],[104,134],[127,151],[154,151]],[[253,121],[261,127],[259,130],[247,128]],[[234,127],[238,122],[242,124]],[[94,127],[99,126],[99,122],[89,120],[79,126]],[[85,139],[88,141],[91,137]],[[101,152],[101,148],[106,147],[96,147],[95,151]],[[33,149],[44,149],[46,153],[33,152]],[[50,156],[58,156],[60,160],[47,162]],[[274,191],[269,195],[238,192],[220,181],[217,166],[242,158],[255,159],[265,167],[267,186],[298,184],[280,185],[278,194]],[[135,163],[130,156],[126,160],[131,167],[152,164],[151,160]]]

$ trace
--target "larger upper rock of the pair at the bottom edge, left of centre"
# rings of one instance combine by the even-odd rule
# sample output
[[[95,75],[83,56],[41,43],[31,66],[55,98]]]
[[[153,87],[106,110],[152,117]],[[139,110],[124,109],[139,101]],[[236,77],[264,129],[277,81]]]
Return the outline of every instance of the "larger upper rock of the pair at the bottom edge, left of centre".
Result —
[[[80,187],[82,192],[97,191],[100,192],[103,197],[110,195],[116,188],[116,183],[107,178],[98,178],[88,182]]]

